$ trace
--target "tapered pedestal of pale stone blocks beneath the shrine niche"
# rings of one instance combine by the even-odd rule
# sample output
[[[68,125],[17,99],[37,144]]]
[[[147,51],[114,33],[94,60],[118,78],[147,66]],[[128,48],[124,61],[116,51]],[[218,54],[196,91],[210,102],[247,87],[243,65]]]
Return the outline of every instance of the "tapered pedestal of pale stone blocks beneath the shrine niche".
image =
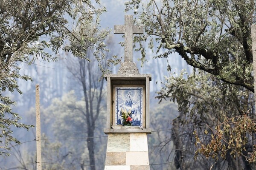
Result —
[[[105,170],[149,170],[146,133],[109,133]]]

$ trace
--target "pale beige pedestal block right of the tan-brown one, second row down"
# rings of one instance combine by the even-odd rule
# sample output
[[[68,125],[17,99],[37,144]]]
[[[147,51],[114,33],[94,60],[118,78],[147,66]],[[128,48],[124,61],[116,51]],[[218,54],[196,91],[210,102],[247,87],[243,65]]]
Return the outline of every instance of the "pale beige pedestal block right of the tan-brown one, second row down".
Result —
[[[126,152],[127,165],[149,165],[148,152]]]

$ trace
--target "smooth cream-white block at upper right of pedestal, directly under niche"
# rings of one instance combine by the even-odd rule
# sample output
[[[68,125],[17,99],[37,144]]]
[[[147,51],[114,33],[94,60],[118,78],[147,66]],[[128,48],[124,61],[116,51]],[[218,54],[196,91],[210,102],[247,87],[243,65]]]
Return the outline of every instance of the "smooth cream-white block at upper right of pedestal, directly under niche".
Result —
[[[148,140],[146,133],[130,134],[130,151],[148,151]]]

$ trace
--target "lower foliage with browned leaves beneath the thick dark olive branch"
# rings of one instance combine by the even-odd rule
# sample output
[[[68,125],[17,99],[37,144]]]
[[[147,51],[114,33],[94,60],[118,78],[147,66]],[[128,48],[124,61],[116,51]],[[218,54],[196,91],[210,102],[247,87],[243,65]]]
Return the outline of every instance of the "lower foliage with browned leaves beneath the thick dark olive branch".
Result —
[[[181,71],[180,75],[166,77],[157,98],[177,102],[180,115],[175,121],[181,127],[191,127],[180,135],[193,133],[194,139],[188,142],[184,137],[183,142],[190,150],[195,144],[195,159],[200,153],[216,160],[226,159],[231,153],[233,159],[238,155],[253,161],[253,155],[242,153],[252,146],[256,130],[254,113],[247,112],[254,103],[250,96],[245,88],[227,85],[209,74]]]

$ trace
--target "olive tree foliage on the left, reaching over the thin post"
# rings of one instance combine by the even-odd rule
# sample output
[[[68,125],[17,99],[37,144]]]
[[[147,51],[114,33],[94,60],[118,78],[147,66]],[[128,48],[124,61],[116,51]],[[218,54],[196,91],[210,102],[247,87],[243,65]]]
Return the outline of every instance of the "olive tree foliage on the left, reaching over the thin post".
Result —
[[[95,48],[100,70],[108,71],[101,62],[108,51],[103,40],[109,30],[99,29],[99,15],[105,11],[99,0],[0,1],[0,147],[4,148],[0,155],[9,155],[10,142],[20,143],[12,136],[12,127],[31,127],[20,123],[20,116],[12,112],[15,102],[5,93],[22,94],[17,79],[32,81],[28,75],[19,74],[19,63],[56,61],[60,50],[89,61],[86,51],[90,47]],[[111,62],[109,59],[108,64]]]

